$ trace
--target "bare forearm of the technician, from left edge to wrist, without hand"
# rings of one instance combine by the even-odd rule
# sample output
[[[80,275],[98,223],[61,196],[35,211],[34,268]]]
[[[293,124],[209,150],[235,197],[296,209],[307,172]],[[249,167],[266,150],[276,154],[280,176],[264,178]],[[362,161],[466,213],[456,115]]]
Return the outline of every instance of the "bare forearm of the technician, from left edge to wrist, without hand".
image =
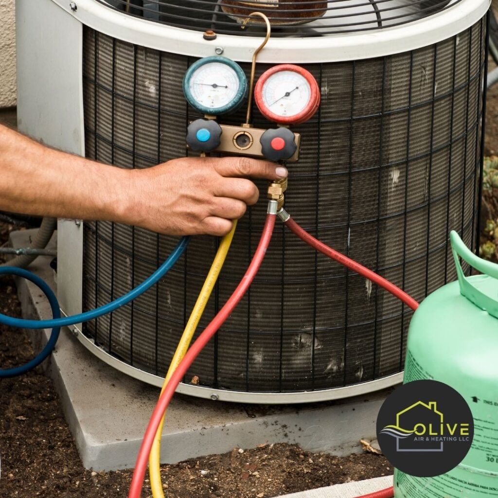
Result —
[[[121,221],[130,172],[47,148],[0,125],[0,210]]]

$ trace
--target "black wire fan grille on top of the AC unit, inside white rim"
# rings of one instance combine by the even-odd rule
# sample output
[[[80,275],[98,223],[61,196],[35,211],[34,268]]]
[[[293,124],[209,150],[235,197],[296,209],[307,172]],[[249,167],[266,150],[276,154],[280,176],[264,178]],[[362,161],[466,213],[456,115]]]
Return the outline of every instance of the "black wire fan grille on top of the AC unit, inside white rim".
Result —
[[[270,17],[273,36],[323,36],[378,31],[425,19],[461,0],[98,0],[135,17],[180,28],[243,35],[254,10]],[[458,8],[458,7],[457,7]],[[264,35],[257,18],[249,35]]]

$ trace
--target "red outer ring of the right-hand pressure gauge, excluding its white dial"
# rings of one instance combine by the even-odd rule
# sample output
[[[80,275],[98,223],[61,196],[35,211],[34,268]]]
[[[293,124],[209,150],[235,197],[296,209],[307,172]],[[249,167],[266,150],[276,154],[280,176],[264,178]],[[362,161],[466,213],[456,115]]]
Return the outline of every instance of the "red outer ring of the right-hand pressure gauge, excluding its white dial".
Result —
[[[310,86],[310,99],[306,107],[298,114],[293,116],[278,116],[272,113],[264,103],[263,99],[263,86],[268,81],[270,76],[281,71],[293,71],[303,76]],[[265,71],[257,80],[254,88],[254,101],[259,109],[259,112],[268,120],[277,124],[301,124],[308,121],[318,110],[320,106],[320,88],[315,77],[301,66],[295,64],[278,64]]]

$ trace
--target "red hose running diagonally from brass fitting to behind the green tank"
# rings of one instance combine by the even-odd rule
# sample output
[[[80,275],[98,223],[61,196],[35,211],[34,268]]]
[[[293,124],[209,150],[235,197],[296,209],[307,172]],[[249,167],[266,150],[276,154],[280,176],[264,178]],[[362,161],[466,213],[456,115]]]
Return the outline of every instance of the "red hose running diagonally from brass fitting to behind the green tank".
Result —
[[[293,234],[297,235],[302,241],[306,242],[306,244],[320,251],[322,254],[329,256],[331,259],[334,259],[338,263],[341,263],[342,265],[348,267],[350,270],[356,271],[360,275],[363,275],[365,278],[372,280],[373,283],[376,283],[380,287],[390,292],[393,296],[396,296],[400,301],[405,303],[412,310],[416,310],[418,308],[417,301],[415,301],[413,297],[410,297],[404,290],[396,287],[393,283],[389,282],[389,280],[386,280],[374,271],[369,270],[362,264],[353,261],[353,259],[350,259],[344,254],[337,252],[323,242],[320,242],[318,239],[315,239],[312,235],[308,234],[306,230],[301,228],[285,211],[280,211],[279,215],[282,218],[284,225]]]

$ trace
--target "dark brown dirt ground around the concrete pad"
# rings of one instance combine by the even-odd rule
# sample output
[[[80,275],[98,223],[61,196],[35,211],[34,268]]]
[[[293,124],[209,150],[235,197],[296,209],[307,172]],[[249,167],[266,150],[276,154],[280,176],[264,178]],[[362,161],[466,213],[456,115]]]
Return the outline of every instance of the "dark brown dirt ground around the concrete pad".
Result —
[[[13,124],[12,113],[0,122]],[[486,155],[498,154],[498,85],[488,93]],[[12,226],[0,223],[0,245]],[[0,310],[18,316],[11,280],[0,279]],[[33,352],[23,332],[0,326],[0,364],[24,363]],[[130,471],[92,472],[81,464],[52,381],[39,371],[0,381],[2,498],[122,498]],[[207,471],[207,473],[205,472]],[[392,474],[387,460],[365,453],[338,458],[295,445],[261,445],[162,467],[170,498],[270,498]],[[148,481],[142,497],[150,497]]]

